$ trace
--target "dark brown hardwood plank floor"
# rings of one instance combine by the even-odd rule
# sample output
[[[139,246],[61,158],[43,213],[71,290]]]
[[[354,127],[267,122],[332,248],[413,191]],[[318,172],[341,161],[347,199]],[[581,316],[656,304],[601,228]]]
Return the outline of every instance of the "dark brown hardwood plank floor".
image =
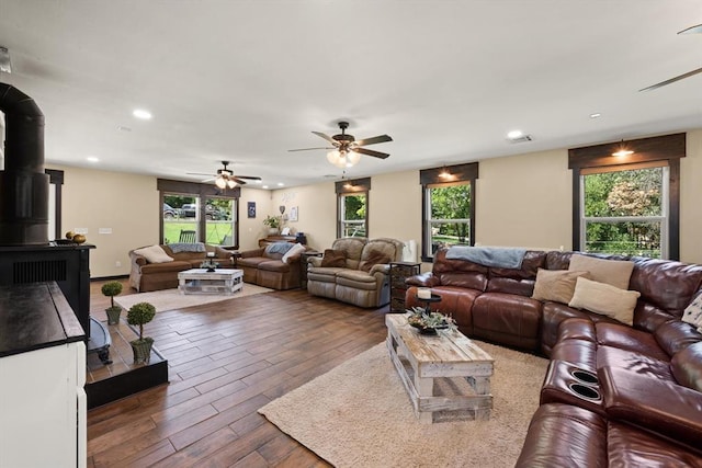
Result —
[[[170,384],[90,410],[88,466],[328,466],[257,410],[381,343],[387,310],[293,289],[158,312],[145,332]]]

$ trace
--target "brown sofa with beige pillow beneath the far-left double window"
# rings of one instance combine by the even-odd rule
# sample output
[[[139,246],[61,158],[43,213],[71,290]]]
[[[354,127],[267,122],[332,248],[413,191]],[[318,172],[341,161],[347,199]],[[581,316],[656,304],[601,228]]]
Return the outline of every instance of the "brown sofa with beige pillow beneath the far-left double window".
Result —
[[[202,242],[146,246],[129,251],[129,286],[138,293],[178,287],[178,273],[199,269],[213,253],[219,267],[231,267],[231,252]]]

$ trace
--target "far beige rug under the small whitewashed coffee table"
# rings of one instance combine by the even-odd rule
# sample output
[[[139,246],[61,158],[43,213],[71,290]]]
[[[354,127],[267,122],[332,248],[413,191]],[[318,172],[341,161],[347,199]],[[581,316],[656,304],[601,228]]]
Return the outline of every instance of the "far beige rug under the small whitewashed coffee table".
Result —
[[[244,287],[239,292],[229,296],[218,294],[181,294],[178,289],[163,289],[151,293],[136,293],[127,296],[115,296],[114,301],[125,309],[128,309],[136,303],[151,303],[154,307],[156,307],[156,310],[162,312],[165,310],[183,309],[185,307],[218,303],[220,300],[270,293],[272,290],[274,289],[245,283]]]

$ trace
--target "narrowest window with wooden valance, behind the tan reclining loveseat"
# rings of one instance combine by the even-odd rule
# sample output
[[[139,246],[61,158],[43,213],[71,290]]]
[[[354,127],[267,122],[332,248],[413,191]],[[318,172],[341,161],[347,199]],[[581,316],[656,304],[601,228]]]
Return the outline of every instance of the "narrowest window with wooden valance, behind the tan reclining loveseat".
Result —
[[[337,237],[367,237],[370,190],[371,179],[337,182]]]

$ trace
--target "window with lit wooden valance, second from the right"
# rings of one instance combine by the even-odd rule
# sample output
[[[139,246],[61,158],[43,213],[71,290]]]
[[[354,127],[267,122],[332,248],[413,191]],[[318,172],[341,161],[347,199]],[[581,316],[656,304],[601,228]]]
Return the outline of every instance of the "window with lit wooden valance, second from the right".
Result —
[[[431,262],[445,247],[474,244],[477,172],[477,163],[420,171],[423,261]]]

